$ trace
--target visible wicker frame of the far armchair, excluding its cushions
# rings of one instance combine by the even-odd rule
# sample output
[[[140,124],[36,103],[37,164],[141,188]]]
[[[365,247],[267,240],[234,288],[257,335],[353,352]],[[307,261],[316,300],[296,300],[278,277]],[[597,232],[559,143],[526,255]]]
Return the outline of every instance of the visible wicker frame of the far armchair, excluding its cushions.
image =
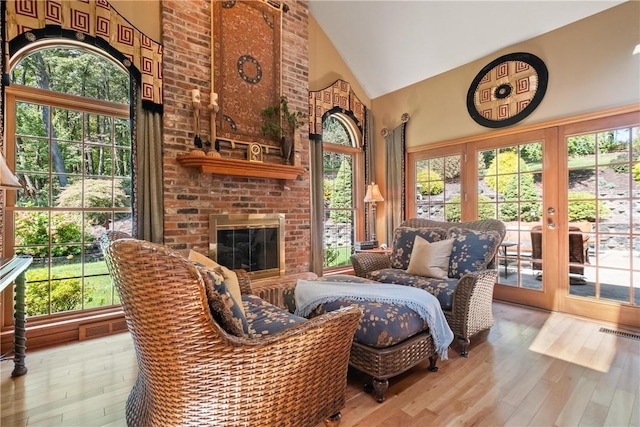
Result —
[[[462,227],[477,231],[497,231],[501,239],[506,234],[504,223],[499,220],[487,219],[468,222],[443,222],[429,219],[412,218],[400,224],[401,227],[425,228],[439,227],[449,229]],[[391,267],[389,256],[383,253],[358,253],[351,257],[356,276],[369,277],[369,273]],[[493,269],[494,262],[489,269],[465,274],[458,281],[453,304],[450,310],[444,314],[449,322],[451,330],[462,345],[460,354],[468,356],[467,348],[470,338],[480,331],[493,326],[493,313],[491,303],[493,301],[493,287],[497,280],[497,271]]]

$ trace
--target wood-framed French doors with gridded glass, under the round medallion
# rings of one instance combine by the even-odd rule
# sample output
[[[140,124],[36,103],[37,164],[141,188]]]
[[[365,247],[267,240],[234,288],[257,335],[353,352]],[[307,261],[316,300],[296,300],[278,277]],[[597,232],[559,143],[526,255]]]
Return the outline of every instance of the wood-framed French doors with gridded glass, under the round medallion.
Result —
[[[498,218],[496,299],[640,327],[640,112],[494,135],[410,153],[408,217]],[[418,178],[451,156],[460,173],[425,202]]]

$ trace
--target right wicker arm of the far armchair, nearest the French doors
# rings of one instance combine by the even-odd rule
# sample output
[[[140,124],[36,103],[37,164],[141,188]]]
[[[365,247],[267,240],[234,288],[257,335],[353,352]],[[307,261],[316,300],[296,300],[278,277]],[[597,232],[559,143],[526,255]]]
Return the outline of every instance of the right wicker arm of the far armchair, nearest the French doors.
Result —
[[[460,278],[450,312],[445,312],[451,329],[458,336],[470,337],[493,325],[491,304],[496,270],[481,270]]]

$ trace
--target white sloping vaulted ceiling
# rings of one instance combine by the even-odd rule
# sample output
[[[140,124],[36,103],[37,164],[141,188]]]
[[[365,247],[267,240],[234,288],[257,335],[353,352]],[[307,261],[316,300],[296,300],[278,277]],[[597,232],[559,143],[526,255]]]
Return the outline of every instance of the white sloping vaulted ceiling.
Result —
[[[309,11],[370,99],[623,1],[328,1]]]

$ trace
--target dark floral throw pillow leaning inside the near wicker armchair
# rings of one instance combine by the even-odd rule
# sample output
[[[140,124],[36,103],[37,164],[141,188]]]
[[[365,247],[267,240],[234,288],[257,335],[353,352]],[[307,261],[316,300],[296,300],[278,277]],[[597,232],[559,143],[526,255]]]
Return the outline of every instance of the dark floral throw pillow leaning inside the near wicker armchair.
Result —
[[[213,319],[231,335],[247,336],[249,324],[244,310],[241,310],[242,300],[234,300],[224,283],[224,278],[216,270],[206,267],[198,267],[198,270],[204,279],[204,287]]]

